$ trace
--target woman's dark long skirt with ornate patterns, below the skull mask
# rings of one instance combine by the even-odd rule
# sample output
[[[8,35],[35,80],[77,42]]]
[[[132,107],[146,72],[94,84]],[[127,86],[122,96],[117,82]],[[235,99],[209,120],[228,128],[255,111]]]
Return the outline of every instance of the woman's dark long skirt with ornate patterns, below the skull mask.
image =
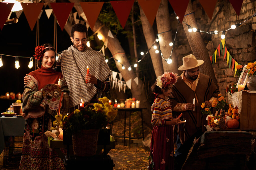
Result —
[[[45,136],[54,120],[48,113],[26,120],[19,169],[64,169],[63,161],[49,147],[48,137]],[[64,149],[62,152],[66,153]]]

